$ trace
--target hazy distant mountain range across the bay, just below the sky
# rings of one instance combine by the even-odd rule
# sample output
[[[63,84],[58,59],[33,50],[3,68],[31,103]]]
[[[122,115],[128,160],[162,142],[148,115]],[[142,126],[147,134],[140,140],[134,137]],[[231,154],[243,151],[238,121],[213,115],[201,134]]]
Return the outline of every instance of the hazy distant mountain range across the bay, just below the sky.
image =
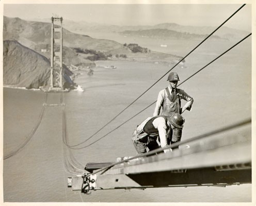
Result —
[[[163,23],[153,26],[117,26],[87,22],[73,22],[65,20],[65,28],[73,32],[115,32],[121,35],[141,36],[150,38],[202,38],[212,33],[216,27],[212,26],[183,26],[175,23]],[[150,32],[152,36],[146,36]],[[237,40],[248,35],[247,31],[222,26],[214,34],[215,39]]]

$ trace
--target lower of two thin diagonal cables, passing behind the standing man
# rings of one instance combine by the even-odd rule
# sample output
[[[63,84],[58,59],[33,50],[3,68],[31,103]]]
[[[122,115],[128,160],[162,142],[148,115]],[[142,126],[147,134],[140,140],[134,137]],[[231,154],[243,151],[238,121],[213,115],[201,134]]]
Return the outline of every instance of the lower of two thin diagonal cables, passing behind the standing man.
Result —
[[[232,48],[234,48],[235,46],[237,46],[239,43],[243,42],[245,39],[247,39],[249,36],[251,36],[251,33],[249,35],[247,35],[245,38],[243,38],[242,40],[240,40],[239,42],[237,42],[236,44],[234,44],[232,47],[230,47],[228,50],[226,50],[226,52],[223,52],[221,55],[219,55],[218,57],[216,57],[214,60],[212,60],[210,63],[206,64],[205,66],[203,66],[199,71],[197,71],[196,73],[194,73],[193,75],[191,75],[190,77],[188,77],[186,80],[184,80],[183,82],[181,82],[179,85],[181,85],[182,83],[184,83],[185,81],[187,81],[188,79],[190,79],[191,77],[195,76],[197,73],[199,73],[200,71],[202,71],[206,66],[210,65],[211,63],[213,63],[214,61],[216,61],[218,58],[220,58],[221,56],[223,56],[224,54],[226,54],[227,52],[229,52],[229,50],[231,50]],[[154,101],[152,104],[150,104],[149,106],[147,106],[145,109],[143,109],[142,111],[148,109],[150,106],[152,106],[153,104],[155,104],[156,101]],[[119,127],[121,127],[122,125],[124,125],[125,123],[127,123],[128,121],[130,121],[132,118],[134,118],[135,116],[137,116],[139,113],[141,113],[142,111],[138,112],[137,114],[135,114],[134,116],[132,116],[130,119],[128,119],[127,121],[125,121],[124,123],[122,123],[121,125],[119,125],[118,127],[116,127],[115,129],[111,130],[110,132],[108,132],[107,134],[105,134],[104,136],[102,136],[100,139],[94,141],[93,143],[86,145],[84,147],[80,147],[80,148],[73,148],[70,145],[67,145],[68,147],[70,147],[71,149],[83,149],[86,148],[98,141],[100,141],[102,138],[104,138],[105,136],[107,136],[108,134],[110,134],[111,132],[115,131],[116,129],[118,129]],[[85,141],[84,141],[85,142]],[[82,142],[82,143],[84,143]],[[82,144],[80,143],[80,144]],[[79,145],[79,144],[78,144]]]

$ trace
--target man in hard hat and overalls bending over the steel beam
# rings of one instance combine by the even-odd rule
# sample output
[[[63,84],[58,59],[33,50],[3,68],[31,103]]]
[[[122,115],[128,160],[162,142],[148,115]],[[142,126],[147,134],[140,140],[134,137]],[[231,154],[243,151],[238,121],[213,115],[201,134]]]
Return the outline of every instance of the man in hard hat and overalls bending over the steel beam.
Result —
[[[182,128],[185,119],[180,114],[171,116],[148,117],[133,132],[132,141],[137,155],[161,147],[166,147],[181,140]],[[165,149],[168,152],[170,149]]]

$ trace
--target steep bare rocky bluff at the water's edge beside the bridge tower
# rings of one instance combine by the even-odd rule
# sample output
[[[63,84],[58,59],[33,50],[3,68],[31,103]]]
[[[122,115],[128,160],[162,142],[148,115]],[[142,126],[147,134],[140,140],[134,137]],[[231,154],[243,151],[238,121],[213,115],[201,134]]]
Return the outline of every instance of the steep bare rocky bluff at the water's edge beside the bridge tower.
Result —
[[[17,41],[6,40],[3,43],[3,83],[14,87],[25,87],[27,89],[49,85],[50,61],[27,48]],[[66,66],[63,67],[66,74],[65,82],[74,84],[69,76],[72,72]]]

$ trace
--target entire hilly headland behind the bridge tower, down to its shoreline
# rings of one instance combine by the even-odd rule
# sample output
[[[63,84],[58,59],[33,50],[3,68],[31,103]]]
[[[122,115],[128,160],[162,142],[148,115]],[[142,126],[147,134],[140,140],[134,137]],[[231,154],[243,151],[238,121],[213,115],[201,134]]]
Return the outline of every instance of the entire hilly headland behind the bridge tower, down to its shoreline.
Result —
[[[39,88],[49,85],[51,23],[25,21],[4,16],[4,84],[15,87]],[[142,61],[166,65],[182,57],[154,53],[134,44],[133,48],[106,39],[94,39],[63,28],[63,68],[66,83],[72,87],[68,68],[73,65],[87,69],[96,60]],[[135,49],[137,48],[137,49]]]

